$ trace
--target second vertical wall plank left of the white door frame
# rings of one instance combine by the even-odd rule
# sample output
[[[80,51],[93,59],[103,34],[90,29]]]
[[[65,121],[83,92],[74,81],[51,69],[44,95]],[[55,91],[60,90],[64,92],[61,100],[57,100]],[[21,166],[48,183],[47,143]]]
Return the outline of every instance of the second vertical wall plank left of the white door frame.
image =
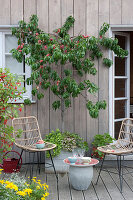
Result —
[[[88,35],[94,35],[98,37],[98,0],[87,1],[87,13],[86,13],[86,32]],[[98,71],[98,61],[95,61],[95,67]],[[87,79],[90,79],[92,82],[98,85],[98,72],[96,76],[87,75]],[[87,99],[90,99],[93,102],[98,101],[98,94],[91,95],[87,93]],[[94,135],[98,134],[98,119],[92,119],[87,111],[87,142],[91,143]]]

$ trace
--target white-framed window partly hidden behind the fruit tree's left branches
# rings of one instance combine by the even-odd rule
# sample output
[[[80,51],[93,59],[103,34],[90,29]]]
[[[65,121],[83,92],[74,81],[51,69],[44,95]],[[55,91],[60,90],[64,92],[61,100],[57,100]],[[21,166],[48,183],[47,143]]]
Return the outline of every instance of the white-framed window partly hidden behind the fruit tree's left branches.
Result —
[[[31,75],[31,68],[25,65],[25,62],[18,63],[16,59],[12,57],[10,50],[17,48],[17,38],[12,36],[11,30],[0,29],[0,67],[9,68],[11,73],[15,73],[18,76],[22,76],[24,79],[23,87],[25,87],[26,92],[23,94],[23,99],[29,98],[31,100],[31,85],[26,84],[26,79]],[[19,102],[22,100],[18,100]]]

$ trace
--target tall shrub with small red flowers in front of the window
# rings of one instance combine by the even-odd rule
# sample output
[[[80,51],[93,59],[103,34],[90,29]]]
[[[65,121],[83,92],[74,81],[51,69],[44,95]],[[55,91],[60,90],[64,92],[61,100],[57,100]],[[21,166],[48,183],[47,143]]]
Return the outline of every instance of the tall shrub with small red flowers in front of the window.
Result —
[[[8,69],[0,68],[0,153],[10,150],[13,144],[13,127],[8,124],[10,119],[18,116],[23,105],[16,105],[17,99],[22,99],[24,88],[22,78],[17,78]],[[20,131],[18,131],[19,136]]]

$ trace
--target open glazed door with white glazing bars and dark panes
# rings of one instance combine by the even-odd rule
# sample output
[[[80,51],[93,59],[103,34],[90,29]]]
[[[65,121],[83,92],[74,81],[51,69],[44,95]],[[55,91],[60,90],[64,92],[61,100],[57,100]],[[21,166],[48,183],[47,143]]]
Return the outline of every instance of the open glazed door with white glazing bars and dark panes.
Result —
[[[113,36],[118,39],[120,47],[129,52],[123,59],[113,54],[113,66],[110,68],[109,131],[118,138],[121,122],[130,113],[130,34],[114,31]]]

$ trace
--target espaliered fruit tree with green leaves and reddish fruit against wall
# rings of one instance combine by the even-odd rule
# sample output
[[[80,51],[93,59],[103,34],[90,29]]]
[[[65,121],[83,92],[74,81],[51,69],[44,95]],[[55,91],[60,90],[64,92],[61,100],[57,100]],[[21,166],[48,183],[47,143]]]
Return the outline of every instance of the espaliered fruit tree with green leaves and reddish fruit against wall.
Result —
[[[31,66],[32,73],[27,79],[27,84],[36,85],[32,89],[32,95],[41,99],[45,91],[50,89],[58,97],[58,100],[52,103],[52,107],[55,110],[61,107],[62,123],[64,110],[71,106],[73,98],[83,91],[98,91],[97,85],[89,79],[85,78],[81,82],[80,78],[79,82],[77,79],[84,74],[96,75],[95,59],[102,59],[107,67],[112,65],[110,59],[103,57],[103,49],[110,49],[119,57],[128,54],[118,45],[117,39],[105,36],[109,29],[106,23],[101,27],[98,38],[89,35],[71,37],[68,30],[74,25],[74,21],[74,18],[69,16],[61,28],[56,29],[53,34],[48,34],[38,28],[38,18],[32,15],[28,24],[20,21],[19,27],[12,29],[12,34],[18,38],[18,48],[12,49],[11,52],[18,62],[22,62],[25,57],[25,63]],[[66,65],[67,63],[70,65]],[[73,77],[73,70],[77,72],[76,79]],[[41,89],[44,92],[41,92]],[[97,118],[99,110],[106,108],[106,102],[103,100],[93,103],[88,100],[86,107],[90,116]]]

